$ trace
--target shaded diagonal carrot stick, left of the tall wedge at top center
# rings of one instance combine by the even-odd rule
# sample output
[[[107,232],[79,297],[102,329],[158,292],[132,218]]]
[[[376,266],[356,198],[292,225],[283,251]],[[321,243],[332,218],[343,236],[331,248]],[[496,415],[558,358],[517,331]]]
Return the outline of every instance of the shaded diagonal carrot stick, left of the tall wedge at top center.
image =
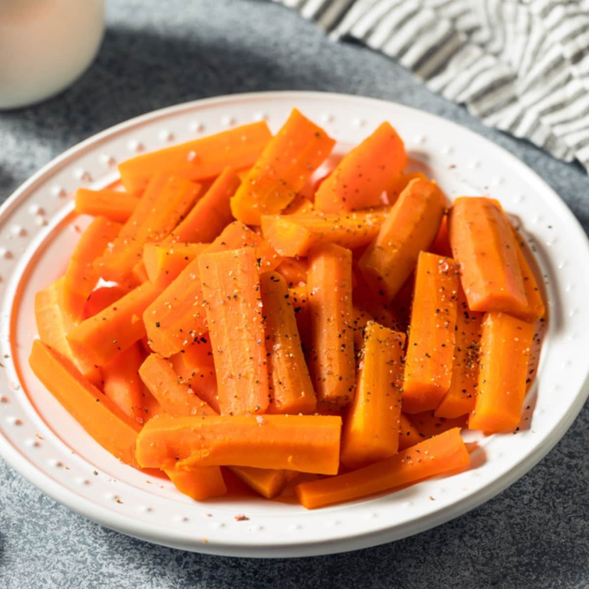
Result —
[[[225,168],[164,241],[213,241],[233,221],[229,199],[235,194],[239,184],[235,170]]]

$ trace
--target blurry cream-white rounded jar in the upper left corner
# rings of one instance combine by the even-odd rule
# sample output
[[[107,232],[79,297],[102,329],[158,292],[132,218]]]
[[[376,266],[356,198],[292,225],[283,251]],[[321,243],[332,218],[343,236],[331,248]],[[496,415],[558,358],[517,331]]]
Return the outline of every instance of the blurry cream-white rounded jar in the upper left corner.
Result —
[[[0,0],[0,109],[64,90],[103,34],[104,0]]]

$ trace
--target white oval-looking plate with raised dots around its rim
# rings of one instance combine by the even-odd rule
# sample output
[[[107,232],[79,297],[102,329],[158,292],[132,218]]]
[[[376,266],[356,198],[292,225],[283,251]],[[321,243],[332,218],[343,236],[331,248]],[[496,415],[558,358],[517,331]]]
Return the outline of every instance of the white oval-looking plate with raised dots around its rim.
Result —
[[[78,236],[75,225],[87,222],[71,214],[71,194],[78,186],[106,186],[117,177],[116,163],[125,158],[231,125],[266,118],[275,131],[292,107],[342,142],[340,152],[389,120],[410,155],[430,168],[450,197],[489,194],[519,216],[546,277],[550,316],[538,378],[526,403],[532,408],[517,435],[484,438],[466,432],[468,441],[479,444],[468,471],[382,497],[316,511],[263,499],[197,503],[169,482],[120,464],[39,385],[27,364],[35,336],[32,294],[63,272]],[[0,452],[70,509],[125,534],[186,550],[303,556],[416,534],[512,484],[573,422],[587,397],[588,267],[583,230],[538,176],[497,145],[431,114],[391,102],[314,92],[233,95],[156,111],[67,151],[0,209],[0,348],[5,355],[0,358]],[[249,519],[236,521],[237,514]]]

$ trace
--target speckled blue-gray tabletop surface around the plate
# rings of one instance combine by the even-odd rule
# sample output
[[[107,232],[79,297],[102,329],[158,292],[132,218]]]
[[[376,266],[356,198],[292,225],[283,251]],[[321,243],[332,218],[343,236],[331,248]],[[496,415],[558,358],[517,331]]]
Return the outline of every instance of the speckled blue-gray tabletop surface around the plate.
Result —
[[[97,61],[69,90],[0,113],[0,201],[78,141],[155,108],[231,92],[325,90],[451,118],[534,168],[589,230],[589,179],[488,130],[385,57],[334,45],[256,0],[118,0]],[[462,517],[348,554],[244,560],[191,554],[112,532],[56,504],[0,459],[0,587],[589,587],[589,407],[530,473]]]

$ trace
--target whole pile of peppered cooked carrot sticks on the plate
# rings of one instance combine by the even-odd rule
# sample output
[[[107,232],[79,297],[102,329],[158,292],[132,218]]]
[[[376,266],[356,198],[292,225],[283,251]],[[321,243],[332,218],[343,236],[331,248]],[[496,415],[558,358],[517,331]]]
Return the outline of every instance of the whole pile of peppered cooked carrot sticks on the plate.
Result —
[[[497,201],[406,171],[389,123],[335,140],[297,110],[120,165],[37,293],[30,363],[99,444],[194,499],[317,508],[469,464],[509,431],[544,316]]]

